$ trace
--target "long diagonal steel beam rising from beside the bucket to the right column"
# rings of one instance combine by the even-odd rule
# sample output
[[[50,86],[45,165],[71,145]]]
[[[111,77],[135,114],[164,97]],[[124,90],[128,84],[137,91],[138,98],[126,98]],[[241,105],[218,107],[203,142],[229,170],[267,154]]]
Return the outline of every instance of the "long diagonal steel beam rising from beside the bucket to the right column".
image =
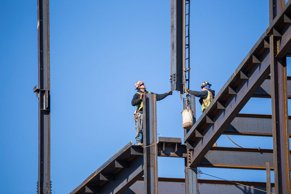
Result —
[[[264,47],[266,38],[265,32],[185,137],[187,146],[195,148],[190,166],[199,163],[269,75],[269,50]],[[241,78],[241,72],[247,74],[248,79]],[[196,136],[197,131],[203,131],[203,136]]]

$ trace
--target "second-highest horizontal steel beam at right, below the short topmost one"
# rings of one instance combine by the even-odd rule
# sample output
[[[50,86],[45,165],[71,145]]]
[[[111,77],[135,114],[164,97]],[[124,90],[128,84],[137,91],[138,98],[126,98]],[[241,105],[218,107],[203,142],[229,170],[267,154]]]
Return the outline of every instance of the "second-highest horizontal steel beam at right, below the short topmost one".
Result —
[[[223,134],[272,136],[272,115],[238,114]],[[291,116],[289,116],[289,136],[291,137]]]

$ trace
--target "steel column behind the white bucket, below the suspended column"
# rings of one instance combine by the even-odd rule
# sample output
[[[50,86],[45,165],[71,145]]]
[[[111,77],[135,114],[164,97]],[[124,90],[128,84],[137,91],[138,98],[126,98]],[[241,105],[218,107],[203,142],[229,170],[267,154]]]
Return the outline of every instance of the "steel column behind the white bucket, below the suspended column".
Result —
[[[193,122],[196,121],[195,96],[189,95],[183,99],[183,109],[186,109],[186,100],[188,100],[188,108],[193,111]],[[187,135],[188,130],[184,129],[184,136]],[[188,168],[192,161],[193,150],[187,149],[187,158],[185,158],[185,190],[186,194],[198,193],[197,170]],[[196,167],[197,168],[197,167]]]

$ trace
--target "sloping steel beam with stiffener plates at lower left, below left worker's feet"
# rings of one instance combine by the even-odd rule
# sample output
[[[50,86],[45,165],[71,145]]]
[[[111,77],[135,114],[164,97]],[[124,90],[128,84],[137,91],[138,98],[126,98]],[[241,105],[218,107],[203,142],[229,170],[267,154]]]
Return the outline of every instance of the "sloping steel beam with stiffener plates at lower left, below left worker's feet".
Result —
[[[122,193],[142,175],[142,148],[129,142],[70,193],[83,194],[89,190]]]

